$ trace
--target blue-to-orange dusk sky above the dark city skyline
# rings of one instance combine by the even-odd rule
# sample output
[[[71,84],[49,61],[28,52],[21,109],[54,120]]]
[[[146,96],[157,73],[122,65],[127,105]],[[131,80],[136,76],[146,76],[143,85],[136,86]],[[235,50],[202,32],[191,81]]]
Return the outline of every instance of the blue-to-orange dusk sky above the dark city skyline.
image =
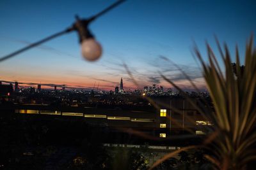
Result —
[[[92,17],[114,2],[1,0],[0,57],[70,27],[75,15]],[[172,87],[161,78],[164,74],[191,89],[176,64],[204,89],[193,58],[195,44],[207,60],[209,42],[220,60],[216,35],[232,54],[237,45],[243,62],[246,41],[256,31],[255,9],[255,1],[125,1],[89,25],[103,48],[96,62],[81,57],[77,33],[71,32],[0,62],[0,80],[41,83],[43,88],[92,89],[99,84],[100,90],[114,90],[123,77],[125,90],[152,84]]]

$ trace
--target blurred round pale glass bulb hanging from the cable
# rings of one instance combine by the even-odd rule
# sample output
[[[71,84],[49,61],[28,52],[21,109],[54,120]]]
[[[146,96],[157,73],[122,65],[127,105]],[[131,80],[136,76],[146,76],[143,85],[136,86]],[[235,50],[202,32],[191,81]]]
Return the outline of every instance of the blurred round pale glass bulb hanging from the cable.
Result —
[[[82,41],[81,52],[84,59],[95,61],[99,59],[102,53],[102,48],[94,38],[88,38]]]

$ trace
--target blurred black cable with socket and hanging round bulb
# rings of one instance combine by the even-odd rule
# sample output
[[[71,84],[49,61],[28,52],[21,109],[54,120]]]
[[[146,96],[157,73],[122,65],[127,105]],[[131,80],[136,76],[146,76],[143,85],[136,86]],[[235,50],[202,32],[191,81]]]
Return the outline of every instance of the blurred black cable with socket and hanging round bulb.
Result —
[[[19,53],[22,53],[26,50],[29,50],[30,48],[33,48],[33,47],[38,46],[46,41],[49,41],[50,39],[56,38],[58,36],[61,36],[62,34],[65,34],[65,33],[71,32],[71,31],[77,31],[77,33],[79,35],[79,42],[81,43],[81,53],[82,53],[84,59],[89,60],[89,61],[97,60],[97,59],[99,59],[100,55],[102,54],[102,47],[95,40],[94,36],[89,31],[88,25],[90,24],[90,22],[92,22],[96,18],[100,17],[107,11],[115,8],[115,6],[118,6],[118,4],[121,4],[124,1],[125,0],[120,0],[120,1],[117,1],[116,3],[111,4],[111,6],[109,6],[105,10],[100,11],[99,13],[97,13],[97,15],[94,15],[93,17],[88,18],[88,19],[81,20],[78,16],[76,16],[76,22],[71,27],[68,27],[64,31],[57,32],[56,34],[53,34],[53,35],[51,35],[47,38],[44,38],[40,41],[37,41],[36,43],[32,43],[31,45],[21,48],[20,50],[17,50],[16,52],[10,53],[9,55],[1,57],[0,62],[10,59]]]

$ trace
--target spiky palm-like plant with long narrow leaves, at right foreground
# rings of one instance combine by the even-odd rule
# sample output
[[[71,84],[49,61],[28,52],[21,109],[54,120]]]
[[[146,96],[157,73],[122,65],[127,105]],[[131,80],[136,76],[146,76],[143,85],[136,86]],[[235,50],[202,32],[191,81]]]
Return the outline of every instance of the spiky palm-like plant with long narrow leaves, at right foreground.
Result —
[[[246,45],[243,70],[238,48],[236,48],[236,74],[234,74],[227,45],[224,45],[224,50],[221,49],[218,40],[217,45],[225,66],[225,73],[221,71],[220,63],[208,44],[209,64],[204,62],[199,50],[195,48],[196,56],[203,68],[213,110],[211,107],[196,106],[196,103],[189,100],[189,96],[186,96],[186,93],[172,80],[162,76],[179,89],[205,118],[214,122],[214,132],[207,136],[204,145],[188,146],[182,150],[204,147],[211,152],[205,157],[214,163],[216,169],[246,169],[248,162],[256,160],[254,150],[256,145],[256,48],[253,47],[253,38],[250,38]],[[189,81],[195,87],[193,81]],[[169,153],[163,159],[158,160],[153,167],[182,150]]]

